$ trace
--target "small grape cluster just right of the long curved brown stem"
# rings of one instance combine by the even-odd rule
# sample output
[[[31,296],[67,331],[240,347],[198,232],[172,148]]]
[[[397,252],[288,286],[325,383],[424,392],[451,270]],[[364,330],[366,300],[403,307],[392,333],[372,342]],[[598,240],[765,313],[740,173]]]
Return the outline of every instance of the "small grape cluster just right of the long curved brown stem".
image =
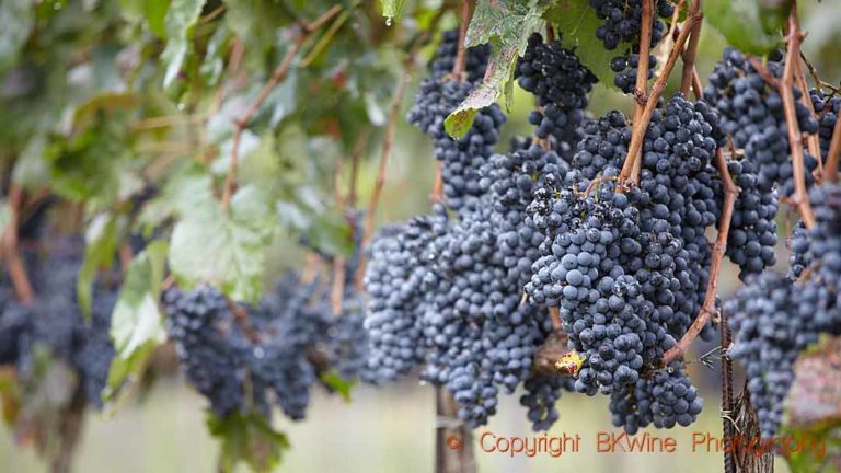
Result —
[[[725,254],[739,266],[739,278],[744,280],[776,263],[779,200],[775,191],[759,188],[759,170],[752,161],[730,160],[727,169],[740,191],[733,208]]]

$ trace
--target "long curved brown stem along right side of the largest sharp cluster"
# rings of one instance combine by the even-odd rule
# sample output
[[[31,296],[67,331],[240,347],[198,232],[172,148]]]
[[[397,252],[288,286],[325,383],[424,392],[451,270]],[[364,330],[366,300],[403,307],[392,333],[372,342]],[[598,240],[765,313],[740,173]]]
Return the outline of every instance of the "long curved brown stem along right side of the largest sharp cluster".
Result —
[[[722,175],[722,184],[724,185],[724,206],[722,209],[722,217],[718,220],[718,236],[715,239],[713,245],[713,256],[710,264],[710,279],[706,284],[706,292],[704,296],[704,303],[701,307],[701,312],[698,318],[689,326],[687,333],[680,338],[680,341],[671,348],[669,348],[663,356],[663,365],[668,366],[670,362],[682,357],[692,342],[698,338],[698,335],[710,322],[710,319],[715,312],[715,297],[718,293],[718,276],[722,269],[722,261],[724,259],[724,252],[727,249],[727,235],[730,231],[730,220],[733,219],[733,207],[736,204],[736,197],[739,194],[739,188],[736,183],[733,182],[730,171],[727,169],[727,161],[724,159],[724,152],[721,149],[715,153],[715,165],[718,169],[718,173]]]

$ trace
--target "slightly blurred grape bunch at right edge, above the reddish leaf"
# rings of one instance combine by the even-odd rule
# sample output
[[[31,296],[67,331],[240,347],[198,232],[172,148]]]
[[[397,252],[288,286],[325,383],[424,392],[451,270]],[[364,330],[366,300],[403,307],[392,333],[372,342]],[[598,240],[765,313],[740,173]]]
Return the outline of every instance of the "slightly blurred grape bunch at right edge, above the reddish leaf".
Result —
[[[815,226],[795,227],[790,275],[751,276],[724,304],[736,334],[728,355],[747,370],[763,437],[773,437],[780,427],[797,356],[820,334],[841,334],[841,185],[817,186],[809,199]]]

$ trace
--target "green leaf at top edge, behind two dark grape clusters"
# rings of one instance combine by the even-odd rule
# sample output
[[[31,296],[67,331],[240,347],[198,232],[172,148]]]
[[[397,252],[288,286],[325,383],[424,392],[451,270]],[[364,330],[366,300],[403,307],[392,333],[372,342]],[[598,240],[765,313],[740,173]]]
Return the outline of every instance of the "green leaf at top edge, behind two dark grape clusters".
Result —
[[[604,49],[604,45],[596,37],[596,28],[602,21],[596,16],[587,0],[561,0],[545,16],[555,26],[561,36],[561,44],[565,48],[574,49],[581,64],[587,66],[602,84],[617,89],[610,60],[619,53]]]

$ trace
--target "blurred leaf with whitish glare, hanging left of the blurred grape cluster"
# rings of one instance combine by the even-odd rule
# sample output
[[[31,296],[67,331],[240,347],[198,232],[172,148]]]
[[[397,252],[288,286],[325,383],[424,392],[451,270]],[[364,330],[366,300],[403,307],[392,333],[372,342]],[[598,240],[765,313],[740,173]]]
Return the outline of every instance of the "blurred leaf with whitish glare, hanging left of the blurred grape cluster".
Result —
[[[154,348],[166,339],[158,300],[168,250],[165,241],[153,241],[126,270],[111,318],[111,337],[116,354],[108,371],[105,401],[118,396],[129,377],[137,377]]]

